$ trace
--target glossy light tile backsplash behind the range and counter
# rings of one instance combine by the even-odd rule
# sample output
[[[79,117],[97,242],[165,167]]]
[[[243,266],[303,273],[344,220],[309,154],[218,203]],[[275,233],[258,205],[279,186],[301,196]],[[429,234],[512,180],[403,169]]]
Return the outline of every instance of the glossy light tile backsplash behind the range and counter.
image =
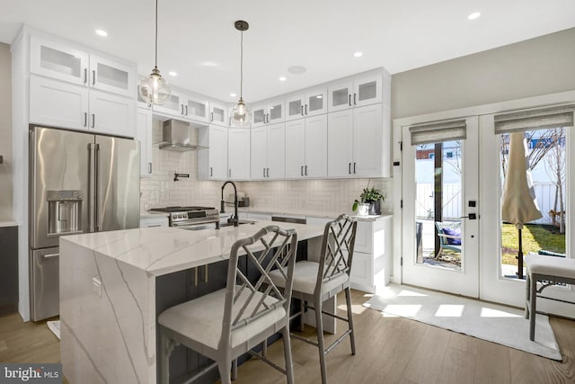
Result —
[[[161,139],[159,122],[155,121],[154,142]],[[195,129],[192,129],[195,131]],[[149,210],[170,205],[206,205],[219,207],[223,182],[198,180],[196,151],[173,152],[154,147],[154,172],[140,181],[140,207]],[[174,182],[174,174],[190,174]],[[392,179],[289,180],[269,182],[238,182],[238,192],[245,192],[254,210],[314,212],[351,212],[351,204],[361,191],[370,186],[385,195],[383,212],[391,212]],[[225,195],[232,193],[226,187]]]

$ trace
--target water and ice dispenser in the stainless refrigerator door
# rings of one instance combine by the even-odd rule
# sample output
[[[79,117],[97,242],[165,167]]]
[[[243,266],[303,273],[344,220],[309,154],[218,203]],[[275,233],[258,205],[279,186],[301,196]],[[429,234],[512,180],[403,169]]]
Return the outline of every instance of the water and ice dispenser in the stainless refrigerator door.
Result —
[[[81,191],[47,191],[48,237],[82,232]]]

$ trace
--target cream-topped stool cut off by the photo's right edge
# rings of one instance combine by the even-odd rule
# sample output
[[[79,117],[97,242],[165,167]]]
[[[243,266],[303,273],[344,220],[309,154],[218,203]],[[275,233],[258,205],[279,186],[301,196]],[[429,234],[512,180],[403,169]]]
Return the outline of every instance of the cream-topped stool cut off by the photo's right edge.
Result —
[[[529,339],[535,340],[535,313],[537,312],[537,297],[547,287],[557,284],[575,284],[575,260],[562,257],[527,255],[525,257],[527,267],[526,276],[526,318],[529,319]],[[541,282],[541,288],[537,290],[537,281]],[[553,299],[547,298],[545,299]],[[553,299],[567,302],[561,299]]]

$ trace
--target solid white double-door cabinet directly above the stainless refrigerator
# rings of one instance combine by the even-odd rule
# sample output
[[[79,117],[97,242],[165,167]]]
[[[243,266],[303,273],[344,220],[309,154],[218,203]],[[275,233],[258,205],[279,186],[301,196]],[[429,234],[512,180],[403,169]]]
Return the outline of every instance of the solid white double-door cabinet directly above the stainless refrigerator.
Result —
[[[31,75],[30,122],[133,138],[136,100]]]

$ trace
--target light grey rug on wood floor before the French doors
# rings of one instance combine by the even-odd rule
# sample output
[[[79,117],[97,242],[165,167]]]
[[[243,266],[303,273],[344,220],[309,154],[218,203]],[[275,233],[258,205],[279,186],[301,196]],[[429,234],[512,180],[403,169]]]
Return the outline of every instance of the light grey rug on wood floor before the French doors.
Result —
[[[522,309],[460,296],[389,284],[364,303],[384,316],[406,317],[431,326],[474,336],[548,359],[562,361],[549,317],[537,315],[535,341]]]

